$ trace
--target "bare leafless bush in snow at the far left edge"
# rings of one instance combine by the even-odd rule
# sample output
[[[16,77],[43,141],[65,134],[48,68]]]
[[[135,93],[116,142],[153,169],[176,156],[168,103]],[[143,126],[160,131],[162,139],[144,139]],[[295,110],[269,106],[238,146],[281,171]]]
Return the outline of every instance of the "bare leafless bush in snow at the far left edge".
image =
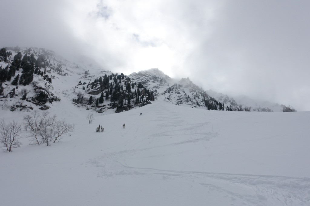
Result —
[[[21,125],[17,122],[6,124],[4,119],[0,121],[0,143],[3,150],[12,152],[12,148],[20,147],[19,140],[22,138],[20,131]]]

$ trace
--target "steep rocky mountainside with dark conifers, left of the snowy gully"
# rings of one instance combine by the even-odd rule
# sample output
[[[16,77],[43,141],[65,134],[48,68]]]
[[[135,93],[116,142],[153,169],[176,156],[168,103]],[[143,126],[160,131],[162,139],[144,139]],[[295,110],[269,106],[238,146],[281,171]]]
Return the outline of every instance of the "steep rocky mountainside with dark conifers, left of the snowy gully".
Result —
[[[42,48],[2,48],[0,53],[0,105],[11,111],[48,109],[71,88],[55,88],[56,79],[69,81],[89,69]]]

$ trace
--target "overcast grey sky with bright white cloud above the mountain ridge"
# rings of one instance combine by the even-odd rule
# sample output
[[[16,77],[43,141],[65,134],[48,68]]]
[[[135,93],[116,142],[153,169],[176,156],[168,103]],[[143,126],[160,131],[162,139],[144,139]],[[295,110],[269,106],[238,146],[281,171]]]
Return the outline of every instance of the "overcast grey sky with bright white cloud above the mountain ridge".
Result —
[[[0,47],[159,68],[229,96],[310,111],[309,0],[0,0]]]

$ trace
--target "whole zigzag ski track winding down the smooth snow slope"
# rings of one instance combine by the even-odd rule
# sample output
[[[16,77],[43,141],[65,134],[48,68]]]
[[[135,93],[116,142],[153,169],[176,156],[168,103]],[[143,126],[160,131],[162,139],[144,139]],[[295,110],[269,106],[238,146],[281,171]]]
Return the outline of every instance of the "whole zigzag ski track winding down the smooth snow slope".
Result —
[[[98,178],[143,175],[157,181],[180,182],[182,179],[183,182],[192,182],[196,186],[203,187],[202,190],[206,194],[210,192],[220,194],[224,199],[228,199],[231,205],[310,205],[310,178],[165,170],[156,167],[144,168],[128,165],[128,160],[135,158],[134,156],[141,152],[176,147],[182,144],[189,146],[189,144],[198,142],[206,144],[208,140],[218,136],[218,133],[213,132],[213,124],[209,122],[188,124],[186,121],[179,120],[177,114],[173,113],[167,115],[165,120],[155,118],[151,121],[156,122],[157,125],[154,126],[163,132],[149,135],[147,143],[140,144],[138,149],[107,152],[87,162],[98,168]],[[210,132],[203,132],[202,127],[208,127]],[[122,133],[122,130],[120,132]],[[143,131],[143,133],[145,132]],[[124,135],[126,134],[122,133],[122,136]],[[175,137],[177,139],[174,139]],[[187,138],[182,139],[182,137]],[[156,141],[161,138],[168,138],[167,141],[159,141],[167,144],[157,144]],[[169,139],[172,139],[171,142]],[[134,138],[128,139],[125,144],[130,144],[133,141]],[[164,154],[158,152],[144,158],[159,156],[164,156]]]

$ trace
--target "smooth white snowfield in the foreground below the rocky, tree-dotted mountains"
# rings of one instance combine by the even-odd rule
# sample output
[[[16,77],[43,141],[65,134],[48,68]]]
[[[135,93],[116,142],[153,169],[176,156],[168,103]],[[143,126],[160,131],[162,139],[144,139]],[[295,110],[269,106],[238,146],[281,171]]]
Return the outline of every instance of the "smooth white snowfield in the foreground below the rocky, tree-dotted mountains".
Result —
[[[310,112],[155,101],[89,124],[67,93],[49,110],[77,125],[71,136],[0,152],[1,205],[310,205]]]

